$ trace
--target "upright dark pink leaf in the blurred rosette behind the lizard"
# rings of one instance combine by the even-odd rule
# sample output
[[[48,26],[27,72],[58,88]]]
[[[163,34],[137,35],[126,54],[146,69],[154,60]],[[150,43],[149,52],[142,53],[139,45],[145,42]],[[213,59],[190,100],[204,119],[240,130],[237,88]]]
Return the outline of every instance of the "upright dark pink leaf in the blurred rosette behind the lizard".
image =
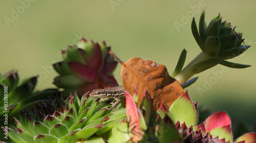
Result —
[[[90,59],[90,68],[93,70],[98,70],[101,66],[101,49],[98,43],[93,45],[92,52],[91,52],[91,59]]]

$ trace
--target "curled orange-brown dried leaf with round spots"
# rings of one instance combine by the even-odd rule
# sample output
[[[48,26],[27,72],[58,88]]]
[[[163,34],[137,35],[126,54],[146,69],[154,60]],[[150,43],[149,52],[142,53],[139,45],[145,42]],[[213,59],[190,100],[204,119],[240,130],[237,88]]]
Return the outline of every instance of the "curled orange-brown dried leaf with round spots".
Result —
[[[138,106],[144,90],[147,90],[152,99],[151,117],[161,106],[162,101],[170,107],[184,93],[178,81],[169,76],[164,65],[141,58],[132,58],[123,63],[113,51],[110,51],[110,54],[122,64],[121,77],[124,89],[133,93],[134,85],[138,88]]]

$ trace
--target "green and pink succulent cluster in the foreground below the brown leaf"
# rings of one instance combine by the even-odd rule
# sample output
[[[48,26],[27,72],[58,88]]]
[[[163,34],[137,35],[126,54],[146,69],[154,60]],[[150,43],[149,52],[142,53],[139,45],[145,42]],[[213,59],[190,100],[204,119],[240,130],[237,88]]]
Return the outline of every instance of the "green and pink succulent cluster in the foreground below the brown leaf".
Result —
[[[120,122],[113,128],[109,141],[122,142],[233,142],[231,120],[226,112],[220,111],[197,125],[197,102],[192,102],[187,92],[168,109],[162,106],[150,120],[150,101],[146,95],[138,108],[134,96],[125,92],[127,122]],[[174,124],[176,123],[176,124]],[[187,127],[188,125],[188,127]],[[247,133],[234,142],[256,141],[256,133]]]

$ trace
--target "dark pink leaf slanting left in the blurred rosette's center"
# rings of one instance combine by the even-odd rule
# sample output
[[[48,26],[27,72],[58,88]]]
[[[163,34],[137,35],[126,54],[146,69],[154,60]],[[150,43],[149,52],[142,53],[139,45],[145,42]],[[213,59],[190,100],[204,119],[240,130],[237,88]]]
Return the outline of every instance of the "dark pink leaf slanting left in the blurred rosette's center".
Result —
[[[96,72],[86,65],[78,62],[69,62],[69,67],[71,71],[79,78],[88,82],[93,82],[95,80]]]

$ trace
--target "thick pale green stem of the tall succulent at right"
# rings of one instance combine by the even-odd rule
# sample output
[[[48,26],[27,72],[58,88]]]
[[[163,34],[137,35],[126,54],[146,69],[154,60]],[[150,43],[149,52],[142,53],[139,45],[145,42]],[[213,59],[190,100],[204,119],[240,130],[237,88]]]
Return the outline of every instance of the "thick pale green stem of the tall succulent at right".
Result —
[[[179,72],[174,78],[179,81],[179,84],[185,83],[191,76],[193,76],[195,73],[195,65],[205,61],[209,58],[212,58],[212,56],[209,56],[208,54],[201,52],[193,61],[191,61],[181,72]]]

